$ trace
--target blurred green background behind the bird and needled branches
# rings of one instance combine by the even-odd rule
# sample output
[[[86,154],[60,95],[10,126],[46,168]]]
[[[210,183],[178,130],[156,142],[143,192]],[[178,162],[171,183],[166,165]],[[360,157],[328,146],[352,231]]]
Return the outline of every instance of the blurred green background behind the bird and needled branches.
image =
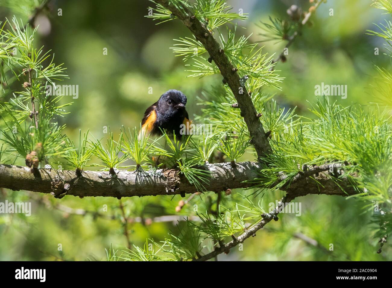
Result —
[[[11,1],[0,1],[0,19],[15,14],[26,21],[33,11],[24,9],[22,2],[11,5]],[[263,39],[256,25],[260,20],[267,22],[268,16],[285,19],[292,4],[309,7],[308,0],[227,2],[233,11],[243,9],[249,13],[249,20],[241,23],[244,28],[237,29],[237,33],[253,33],[251,42]],[[67,124],[66,133],[71,139],[77,139],[79,129],[90,129],[96,138],[101,138],[107,137],[103,134],[105,126],[113,132],[119,132],[121,125],[139,126],[144,110],[169,89],[183,91],[188,97],[189,114],[198,114],[196,97],[212,85],[220,85],[220,76],[187,77],[181,57],[174,57],[169,47],[173,47],[174,38],[191,36],[190,32],[178,21],[155,25],[145,18],[150,5],[147,0],[51,1],[49,11],[36,18],[40,25],[38,46],[52,49],[55,62],[64,62],[67,67],[70,78],[61,84],[79,85],[78,99],[64,99],[74,101],[68,108],[71,113],[60,119],[60,124]],[[331,8],[334,16],[329,16]],[[58,16],[58,9],[62,9],[62,16]],[[328,0],[321,4],[311,18],[312,27],[305,27],[303,35],[290,47],[287,62],[277,65],[285,77],[282,90],[265,91],[276,93],[275,98],[285,107],[297,106],[299,115],[308,114],[310,105],[306,100],[316,100],[314,86],[322,82],[347,85],[347,99],[335,97],[340,103],[369,105],[369,87],[375,74],[372,66],[389,68],[390,62],[383,55],[381,39],[365,31],[374,29],[373,22],[388,17],[370,7],[368,0]],[[283,42],[260,45],[265,45],[264,51],[270,54],[280,53],[284,47]],[[380,49],[378,56],[374,55],[375,47]],[[107,55],[103,54],[104,48]],[[118,199],[67,196],[60,200],[31,192],[1,192],[0,201],[32,201],[33,212],[31,217],[0,216],[0,260],[104,260],[105,248],[129,245]],[[241,192],[233,191],[227,197],[235,199]],[[278,192],[266,193],[263,202],[274,202],[279,196]],[[180,196],[122,199],[129,218],[130,244],[143,245],[147,237],[163,240],[167,231],[176,231],[176,221],[151,223],[152,217],[191,215],[192,201],[208,206],[216,197],[213,193],[196,196],[180,212],[175,209]],[[372,237],[372,227],[366,225],[370,215],[363,214],[361,203],[331,196],[306,196],[297,201],[302,203],[301,217],[279,216],[278,222],[245,241],[243,250],[233,248],[219,260],[392,260],[386,246],[382,254],[376,254],[377,239]],[[107,212],[103,211],[104,205]],[[87,213],[64,211],[64,206]],[[143,221],[138,222],[140,217]],[[316,240],[318,245],[304,241],[301,235]],[[328,250],[330,243],[334,244],[332,252]]]

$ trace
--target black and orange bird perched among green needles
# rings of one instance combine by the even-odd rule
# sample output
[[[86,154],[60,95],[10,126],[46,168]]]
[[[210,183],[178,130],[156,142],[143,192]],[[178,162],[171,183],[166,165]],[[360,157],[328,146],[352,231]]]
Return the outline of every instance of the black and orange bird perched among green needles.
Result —
[[[181,91],[172,89],[163,93],[158,101],[145,110],[139,139],[140,135],[145,133],[162,135],[162,130],[165,130],[167,134],[174,132],[176,137],[181,137],[180,125],[191,123],[188,112],[185,110],[186,104],[187,96]]]

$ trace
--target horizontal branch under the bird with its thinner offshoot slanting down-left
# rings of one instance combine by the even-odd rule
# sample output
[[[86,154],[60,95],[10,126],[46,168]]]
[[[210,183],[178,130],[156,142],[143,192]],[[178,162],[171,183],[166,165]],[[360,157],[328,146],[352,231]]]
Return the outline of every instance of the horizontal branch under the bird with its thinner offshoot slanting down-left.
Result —
[[[329,164],[327,164],[329,166]],[[325,166],[327,166],[325,165]],[[246,180],[253,180],[258,176],[261,167],[256,162],[236,163],[233,168],[230,163],[209,164],[205,169],[211,173],[211,179],[206,190],[220,192],[228,188],[247,188]],[[73,196],[149,196],[149,195],[174,195],[182,193],[195,193],[196,188],[183,179],[174,169],[163,169],[146,172],[118,171],[116,177],[111,177],[109,172],[84,171],[82,177],[77,177],[74,171],[65,170],[33,170],[27,167],[0,165],[0,188],[12,190],[29,190],[33,192],[51,193],[56,197]],[[308,170],[309,171],[309,170]],[[289,187],[285,187],[287,194],[281,199],[279,205],[289,203],[295,197],[308,194],[325,194],[347,196],[354,195],[356,191],[347,179],[334,178],[334,172],[328,172],[326,167],[315,167],[314,171],[321,172],[318,176],[307,172],[296,177]],[[312,179],[314,178],[314,179]],[[342,190],[343,189],[343,190]],[[279,207],[278,205],[278,207]],[[278,208],[273,212],[264,214],[263,220],[245,230],[238,237],[227,244],[222,244],[209,254],[201,256],[198,261],[209,260],[226,252],[242,243],[258,230],[269,223],[279,213]]]

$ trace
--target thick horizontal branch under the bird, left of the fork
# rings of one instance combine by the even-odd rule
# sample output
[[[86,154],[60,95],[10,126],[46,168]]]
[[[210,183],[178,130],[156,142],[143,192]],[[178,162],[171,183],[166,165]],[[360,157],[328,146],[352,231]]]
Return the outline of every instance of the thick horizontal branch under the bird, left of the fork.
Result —
[[[208,164],[205,170],[211,173],[207,191],[220,192],[228,188],[246,188],[245,180],[258,176],[261,167],[256,162]],[[116,177],[109,172],[83,171],[78,177],[75,171],[39,169],[34,173],[30,168],[0,165],[0,187],[11,190],[28,190],[33,192],[51,193],[56,197],[73,195],[85,196],[156,196],[174,195],[197,192],[178,170],[159,169],[141,172],[118,171]]]

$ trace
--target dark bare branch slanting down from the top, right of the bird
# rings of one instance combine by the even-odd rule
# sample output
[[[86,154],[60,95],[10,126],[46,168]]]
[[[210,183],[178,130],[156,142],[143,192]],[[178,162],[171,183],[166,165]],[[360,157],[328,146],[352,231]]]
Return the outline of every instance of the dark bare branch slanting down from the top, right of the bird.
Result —
[[[237,100],[238,106],[241,109],[241,116],[243,116],[248,127],[249,134],[252,137],[252,144],[256,149],[258,157],[264,156],[266,152],[270,151],[268,139],[265,135],[263,125],[257,117],[256,109],[252,100],[246,91],[245,87],[240,89],[240,76],[236,72],[237,69],[230,63],[229,58],[221,49],[219,43],[212,36],[211,32],[202,24],[187,7],[183,7],[181,11],[172,4],[169,0],[155,0],[156,3],[161,4],[166,9],[169,9],[174,16],[180,19],[183,24],[194,34],[196,40],[201,42],[215,64],[218,66],[223,79],[229,85],[234,97]],[[243,91],[240,94],[240,91]]]

